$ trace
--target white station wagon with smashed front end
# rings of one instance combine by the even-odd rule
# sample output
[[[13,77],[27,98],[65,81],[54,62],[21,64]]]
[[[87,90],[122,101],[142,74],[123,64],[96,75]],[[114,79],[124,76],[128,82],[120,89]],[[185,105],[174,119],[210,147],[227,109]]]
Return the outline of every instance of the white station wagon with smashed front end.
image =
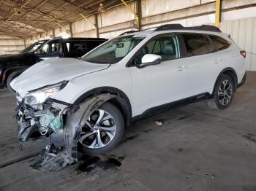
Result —
[[[108,93],[113,98],[94,108],[89,117],[75,118],[84,123],[72,139],[83,152],[108,152],[121,141],[130,122],[172,106],[206,99],[212,109],[226,109],[245,82],[245,56],[229,35],[214,26],[165,25],[118,36],[80,60],[37,63],[11,83],[18,93],[19,136],[26,140],[31,135],[28,129],[23,133],[24,127],[54,134],[56,127],[49,125],[53,111],[59,109],[60,124],[67,108]],[[59,104],[57,108],[53,103]],[[47,125],[52,131],[45,130]]]

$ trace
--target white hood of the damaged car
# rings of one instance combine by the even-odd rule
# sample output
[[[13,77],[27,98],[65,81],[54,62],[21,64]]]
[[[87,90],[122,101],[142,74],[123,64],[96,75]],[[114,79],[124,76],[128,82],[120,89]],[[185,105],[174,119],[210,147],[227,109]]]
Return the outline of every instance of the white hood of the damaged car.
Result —
[[[11,82],[11,87],[21,96],[31,90],[73,79],[94,71],[107,69],[109,64],[80,61],[75,58],[50,58],[39,62]]]

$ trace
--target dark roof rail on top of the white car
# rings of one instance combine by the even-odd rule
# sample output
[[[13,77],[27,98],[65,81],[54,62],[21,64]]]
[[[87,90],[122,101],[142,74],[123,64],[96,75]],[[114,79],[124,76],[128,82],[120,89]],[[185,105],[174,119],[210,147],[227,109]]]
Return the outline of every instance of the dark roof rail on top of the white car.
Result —
[[[167,30],[196,30],[196,31],[211,31],[211,32],[219,32],[219,33],[222,32],[216,26],[203,25],[203,26],[184,27],[181,24],[167,24],[167,25],[159,26],[154,31],[167,31]]]

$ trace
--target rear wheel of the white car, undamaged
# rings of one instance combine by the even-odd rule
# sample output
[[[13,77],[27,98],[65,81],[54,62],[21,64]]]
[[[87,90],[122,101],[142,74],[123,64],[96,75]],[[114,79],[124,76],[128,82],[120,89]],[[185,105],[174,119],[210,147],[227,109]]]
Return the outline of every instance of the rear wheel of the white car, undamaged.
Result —
[[[214,87],[214,98],[208,99],[207,104],[211,109],[227,109],[233,101],[234,93],[235,83],[233,79],[222,74]]]

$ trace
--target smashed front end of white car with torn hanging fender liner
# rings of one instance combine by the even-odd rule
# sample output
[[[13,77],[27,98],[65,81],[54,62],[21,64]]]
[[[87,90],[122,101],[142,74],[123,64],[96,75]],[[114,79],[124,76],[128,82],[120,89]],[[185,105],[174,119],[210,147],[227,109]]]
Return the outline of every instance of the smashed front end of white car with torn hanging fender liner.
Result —
[[[31,167],[42,171],[58,171],[78,161],[77,145],[81,129],[97,107],[116,95],[109,93],[94,95],[79,106],[47,96],[45,101],[43,98],[29,98],[29,96],[35,95],[30,93],[24,98],[17,96],[18,139],[28,141],[49,137],[50,141],[43,149],[40,160]],[[36,102],[34,100],[37,100],[37,104],[34,104]]]

